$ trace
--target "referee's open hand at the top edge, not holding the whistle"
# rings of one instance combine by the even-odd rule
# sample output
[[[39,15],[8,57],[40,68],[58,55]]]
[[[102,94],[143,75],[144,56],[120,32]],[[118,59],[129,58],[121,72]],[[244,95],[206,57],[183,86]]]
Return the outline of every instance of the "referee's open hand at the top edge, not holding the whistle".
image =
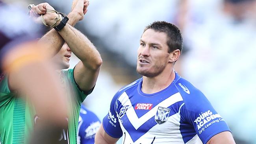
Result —
[[[73,0],[71,12],[73,13],[76,21],[83,20],[83,16],[87,12],[89,6],[88,0]]]

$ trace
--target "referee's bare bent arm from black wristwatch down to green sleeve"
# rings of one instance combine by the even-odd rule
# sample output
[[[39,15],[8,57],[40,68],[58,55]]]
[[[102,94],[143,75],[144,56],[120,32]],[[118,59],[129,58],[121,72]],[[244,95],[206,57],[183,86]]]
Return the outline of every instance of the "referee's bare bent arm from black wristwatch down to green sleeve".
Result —
[[[59,34],[81,60],[74,69],[76,83],[83,91],[92,89],[102,65],[100,53],[85,35],[69,24],[59,31]]]

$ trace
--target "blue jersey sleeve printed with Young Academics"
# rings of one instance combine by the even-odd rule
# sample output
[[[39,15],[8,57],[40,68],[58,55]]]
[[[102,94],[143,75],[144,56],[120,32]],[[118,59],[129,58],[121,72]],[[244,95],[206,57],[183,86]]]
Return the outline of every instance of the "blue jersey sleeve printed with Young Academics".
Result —
[[[214,135],[230,131],[224,119],[215,111],[202,92],[187,96],[184,101],[186,110],[183,115],[193,125],[204,144]]]

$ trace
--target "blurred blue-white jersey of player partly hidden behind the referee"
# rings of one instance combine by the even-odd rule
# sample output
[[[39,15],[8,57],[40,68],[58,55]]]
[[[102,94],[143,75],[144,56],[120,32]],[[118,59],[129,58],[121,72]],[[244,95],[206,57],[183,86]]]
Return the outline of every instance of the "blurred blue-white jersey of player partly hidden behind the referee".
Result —
[[[78,120],[78,144],[94,144],[95,134],[100,128],[99,118],[81,105],[80,116]]]

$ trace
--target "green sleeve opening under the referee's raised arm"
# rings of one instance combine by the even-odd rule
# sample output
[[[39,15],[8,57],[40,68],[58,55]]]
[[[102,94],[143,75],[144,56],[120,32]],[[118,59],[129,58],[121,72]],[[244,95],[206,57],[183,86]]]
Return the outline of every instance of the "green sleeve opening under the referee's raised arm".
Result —
[[[87,97],[87,95],[91,94],[94,87],[91,90],[89,90],[88,92],[85,92],[85,91],[81,90],[79,88],[79,86],[76,84],[76,81],[74,79],[74,68],[66,70],[66,71],[64,71],[64,73],[66,73],[67,78],[69,79],[69,81],[70,81],[70,83],[71,83],[71,85],[74,89],[74,92],[76,93],[75,96],[77,97],[78,101],[80,103],[82,103],[83,100],[85,100],[85,98]]]

